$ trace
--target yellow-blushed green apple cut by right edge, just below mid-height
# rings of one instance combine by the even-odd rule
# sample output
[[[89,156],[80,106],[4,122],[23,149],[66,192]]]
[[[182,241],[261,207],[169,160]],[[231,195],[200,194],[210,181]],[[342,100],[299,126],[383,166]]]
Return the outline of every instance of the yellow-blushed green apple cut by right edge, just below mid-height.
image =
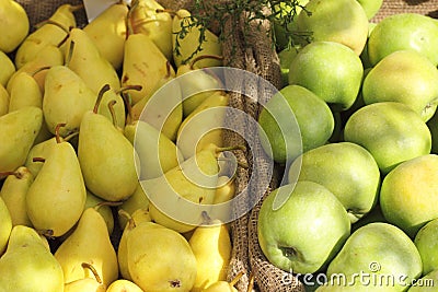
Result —
[[[388,222],[414,237],[428,221],[438,218],[438,155],[403,162],[382,182],[380,206]]]

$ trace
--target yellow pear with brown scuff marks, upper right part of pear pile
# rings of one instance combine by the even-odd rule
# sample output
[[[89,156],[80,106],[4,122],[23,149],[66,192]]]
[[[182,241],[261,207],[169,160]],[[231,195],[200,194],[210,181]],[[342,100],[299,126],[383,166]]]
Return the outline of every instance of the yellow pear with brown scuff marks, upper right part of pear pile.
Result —
[[[157,45],[143,34],[130,34],[125,43],[122,85],[141,85],[141,91],[131,92],[132,104],[151,96],[157,85],[168,74],[168,59]],[[175,75],[170,68],[171,75]]]

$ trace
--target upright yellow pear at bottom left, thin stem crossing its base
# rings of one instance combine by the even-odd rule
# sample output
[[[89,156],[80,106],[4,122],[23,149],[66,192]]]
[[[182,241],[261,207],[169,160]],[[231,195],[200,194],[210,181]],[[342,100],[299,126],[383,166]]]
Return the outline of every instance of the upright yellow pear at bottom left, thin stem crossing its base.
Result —
[[[105,221],[94,208],[83,211],[74,231],[55,252],[55,258],[62,267],[66,283],[94,277],[82,268],[82,262],[92,265],[106,287],[118,278],[116,252]]]

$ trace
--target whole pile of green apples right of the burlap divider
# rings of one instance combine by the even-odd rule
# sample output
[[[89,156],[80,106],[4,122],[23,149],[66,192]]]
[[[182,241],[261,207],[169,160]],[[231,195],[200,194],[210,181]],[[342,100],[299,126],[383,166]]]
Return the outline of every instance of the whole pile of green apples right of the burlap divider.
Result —
[[[261,248],[309,291],[437,291],[438,21],[370,22],[378,0],[300,2],[291,30],[312,42],[279,46],[285,83],[258,118],[286,167]]]

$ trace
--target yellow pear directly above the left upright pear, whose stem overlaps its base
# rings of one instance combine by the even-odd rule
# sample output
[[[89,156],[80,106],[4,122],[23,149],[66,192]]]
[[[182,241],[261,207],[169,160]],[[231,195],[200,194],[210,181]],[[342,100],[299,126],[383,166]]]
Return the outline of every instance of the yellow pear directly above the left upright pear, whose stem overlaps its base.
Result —
[[[82,116],[93,109],[97,96],[84,80],[66,66],[51,67],[46,75],[43,97],[44,118],[50,132],[58,124],[65,137],[79,129]]]

